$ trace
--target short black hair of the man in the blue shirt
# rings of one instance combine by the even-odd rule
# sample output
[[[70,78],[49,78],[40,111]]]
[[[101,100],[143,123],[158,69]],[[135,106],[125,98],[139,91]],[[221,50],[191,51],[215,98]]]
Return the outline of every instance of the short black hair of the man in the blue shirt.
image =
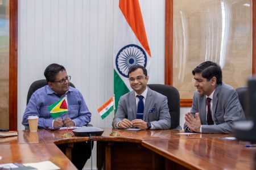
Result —
[[[46,77],[47,83],[54,82],[56,74],[63,70],[66,71],[65,67],[56,63],[48,65],[46,70],[44,70],[44,76]]]

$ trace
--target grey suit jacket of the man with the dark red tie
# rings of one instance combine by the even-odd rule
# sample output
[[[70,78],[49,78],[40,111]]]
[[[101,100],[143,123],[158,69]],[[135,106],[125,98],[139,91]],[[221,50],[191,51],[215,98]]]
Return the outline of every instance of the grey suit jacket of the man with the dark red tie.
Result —
[[[201,120],[201,133],[232,133],[233,123],[245,120],[245,114],[241,107],[236,90],[225,83],[218,85],[213,95],[213,121],[214,125],[207,125],[205,96],[200,96],[196,91],[193,96],[191,114],[199,112]],[[189,131],[186,124],[184,130]]]

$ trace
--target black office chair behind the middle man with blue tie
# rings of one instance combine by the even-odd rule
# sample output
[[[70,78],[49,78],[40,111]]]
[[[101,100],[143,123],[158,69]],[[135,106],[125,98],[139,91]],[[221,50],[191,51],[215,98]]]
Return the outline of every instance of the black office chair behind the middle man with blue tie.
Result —
[[[167,97],[171,116],[171,128],[181,130],[180,126],[180,94],[175,87],[165,84],[147,84],[147,86],[159,94]]]

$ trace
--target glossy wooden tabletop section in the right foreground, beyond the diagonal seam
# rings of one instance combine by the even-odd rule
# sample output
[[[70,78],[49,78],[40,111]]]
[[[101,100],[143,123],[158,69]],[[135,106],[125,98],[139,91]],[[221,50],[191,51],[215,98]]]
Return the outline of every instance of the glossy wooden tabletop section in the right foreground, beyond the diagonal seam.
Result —
[[[218,138],[143,141],[142,146],[192,169],[253,169],[256,148]],[[209,167],[210,166],[210,167]]]

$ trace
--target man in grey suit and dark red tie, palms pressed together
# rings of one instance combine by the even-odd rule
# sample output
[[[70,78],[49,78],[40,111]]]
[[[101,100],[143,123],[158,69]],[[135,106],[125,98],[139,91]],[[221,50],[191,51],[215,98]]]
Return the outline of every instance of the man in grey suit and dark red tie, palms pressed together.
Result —
[[[212,61],[197,66],[192,74],[197,91],[190,113],[185,114],[185,131],[232,133],[233,123],[245,120],[238,95],[222,82],[221,67]]]

